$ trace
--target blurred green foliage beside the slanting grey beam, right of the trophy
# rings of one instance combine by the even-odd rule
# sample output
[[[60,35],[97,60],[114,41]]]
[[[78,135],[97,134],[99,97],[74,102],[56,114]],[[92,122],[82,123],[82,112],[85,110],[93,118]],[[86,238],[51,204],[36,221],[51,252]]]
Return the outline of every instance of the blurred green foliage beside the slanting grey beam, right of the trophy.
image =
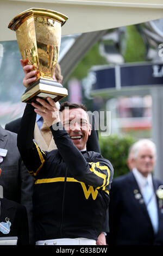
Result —
[[[76,66],[74,71],[72,72],[70,78],[77,78],[78,80],[82,80],[87,76],[87,72],[93,65],[104,65],[108,64],[105,58],[99,54],[99,45],[98,42],[93,45],[93,47],[86,53],[82,61]]]

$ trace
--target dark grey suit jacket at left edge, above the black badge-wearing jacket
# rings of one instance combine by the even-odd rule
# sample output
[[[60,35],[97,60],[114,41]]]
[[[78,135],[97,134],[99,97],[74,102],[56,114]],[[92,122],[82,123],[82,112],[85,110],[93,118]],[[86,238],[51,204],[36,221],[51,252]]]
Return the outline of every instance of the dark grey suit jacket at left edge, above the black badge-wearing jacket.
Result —
[[[3,195],[9,200],[26,206],[29,217],[30,234],[32,235],[32,196],[34,180],[21,160],[17,148],[16,133],[6,131],[1,126],[0,148],[8,150],[7,156],[3,157],[3,162],[0,163],[0,168],[2,169],[0,185],[3,186]]]

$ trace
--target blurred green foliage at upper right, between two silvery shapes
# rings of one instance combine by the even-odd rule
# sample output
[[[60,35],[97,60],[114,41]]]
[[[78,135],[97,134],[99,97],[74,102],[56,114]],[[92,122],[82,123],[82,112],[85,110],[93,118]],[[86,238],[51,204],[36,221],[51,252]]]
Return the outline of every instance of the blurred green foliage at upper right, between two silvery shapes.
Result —
[[[126,27],[122,55],[125,62],[142,62],[146,58],[146,47],[136,26]]]

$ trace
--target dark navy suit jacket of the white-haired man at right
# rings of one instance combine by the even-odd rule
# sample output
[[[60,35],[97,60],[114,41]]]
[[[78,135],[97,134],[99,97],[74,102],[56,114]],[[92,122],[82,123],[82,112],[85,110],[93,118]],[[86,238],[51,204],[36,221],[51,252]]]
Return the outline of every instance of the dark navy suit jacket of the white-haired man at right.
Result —
[[[163,182],[153,178],[156,191]],[[137,190],[137,191],[136,191]],[[145,203],[132,172],[113,180],[109,204],[109,245],[163,245],[163,208],[158,200],[159,230],[154,235]]]

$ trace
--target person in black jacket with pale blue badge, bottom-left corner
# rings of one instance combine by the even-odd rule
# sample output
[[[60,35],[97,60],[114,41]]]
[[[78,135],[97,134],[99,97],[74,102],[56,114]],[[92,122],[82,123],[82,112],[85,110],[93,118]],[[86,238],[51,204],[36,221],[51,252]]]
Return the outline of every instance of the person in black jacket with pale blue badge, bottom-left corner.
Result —
[[[0,169],[0,179],[1,179]],[[28,217],[24,205],[3,198],[3,187],[0,186],[0,237],[16,237],[17,245],[29,245]],[[9,240],[10,241],[10,240]],[[12,243],[9,243],[10,245]]]

